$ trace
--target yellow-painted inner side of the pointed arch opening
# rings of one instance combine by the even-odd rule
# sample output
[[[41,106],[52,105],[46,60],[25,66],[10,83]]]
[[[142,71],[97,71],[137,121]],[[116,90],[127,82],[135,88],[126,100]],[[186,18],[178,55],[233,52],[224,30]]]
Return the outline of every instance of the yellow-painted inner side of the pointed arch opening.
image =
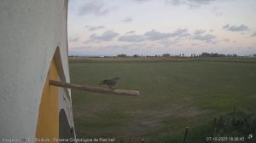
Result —
[[[59,75],[55,65],[55,61],[52,60],[49,67],[47,80],[44,83],[44,91],[41,97],[41,103],[39,107],[38,125],[36,133],[36,138],[38,139],[59,138],[58,88],[49,85],[49,79],[58,81],[58,77]]]

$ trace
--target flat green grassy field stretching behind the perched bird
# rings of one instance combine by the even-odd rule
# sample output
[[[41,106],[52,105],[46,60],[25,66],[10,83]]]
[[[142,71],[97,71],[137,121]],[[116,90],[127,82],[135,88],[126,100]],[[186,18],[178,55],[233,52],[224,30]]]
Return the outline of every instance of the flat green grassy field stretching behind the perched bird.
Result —
[[[236,118],[256,113],[256,62],[230,61],[236,60],[70,60],[71,83],[102,86],[103,79],[119,76],[118,89],[141,92],[130,97],[72,90],[76,134],[182,142],[189,126],[188,140],[205,142],[213,117],[231,117],[234,104]]]

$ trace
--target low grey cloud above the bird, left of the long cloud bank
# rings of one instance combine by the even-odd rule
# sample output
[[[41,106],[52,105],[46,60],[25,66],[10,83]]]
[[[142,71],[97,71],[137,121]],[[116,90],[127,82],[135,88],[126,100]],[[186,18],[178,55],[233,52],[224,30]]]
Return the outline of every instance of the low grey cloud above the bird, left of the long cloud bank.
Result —
[[[105,31],[102,35],[97,36],[96,34],[90,35],[90,41],[111,41],[114,37],[119,36],[119,33],[114,31]]]

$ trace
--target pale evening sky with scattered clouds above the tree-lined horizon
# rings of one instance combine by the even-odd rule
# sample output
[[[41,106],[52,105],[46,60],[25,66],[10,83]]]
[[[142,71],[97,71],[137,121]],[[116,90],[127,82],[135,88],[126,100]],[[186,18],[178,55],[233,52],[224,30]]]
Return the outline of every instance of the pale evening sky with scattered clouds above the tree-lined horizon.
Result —
[[[256,54],[255,0],[69,0],[69,55]]]

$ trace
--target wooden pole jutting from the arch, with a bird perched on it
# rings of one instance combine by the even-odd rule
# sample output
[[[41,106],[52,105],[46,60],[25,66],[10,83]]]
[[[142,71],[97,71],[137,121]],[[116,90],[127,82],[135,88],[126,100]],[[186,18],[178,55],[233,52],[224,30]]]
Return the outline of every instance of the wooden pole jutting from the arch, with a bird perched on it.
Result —
[[[119,94],[119,95],[128,95],[128,96],[137,96],[140,94],[140,92],[136,90],[105,89],[105,88],[98,88],[90,85],[76,85],[72,83],[62,83],[62,82],[53,81],[53,80],[49,80],[49,85],[68,88],[68,89],[78,89],[78,90],[84,90],[89,92],[102,93],[102,94]]]

